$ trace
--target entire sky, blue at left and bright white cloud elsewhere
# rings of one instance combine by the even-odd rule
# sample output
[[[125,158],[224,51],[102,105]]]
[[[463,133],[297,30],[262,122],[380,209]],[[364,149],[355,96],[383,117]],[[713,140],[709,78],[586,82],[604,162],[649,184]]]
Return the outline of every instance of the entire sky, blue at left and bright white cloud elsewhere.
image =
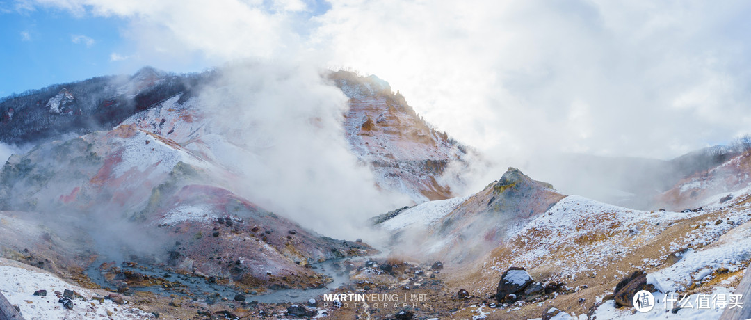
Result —
[[[5,0],[0,95],[237,59],[376,74],[490,158],[671,158],[751,133],[743,1]]]

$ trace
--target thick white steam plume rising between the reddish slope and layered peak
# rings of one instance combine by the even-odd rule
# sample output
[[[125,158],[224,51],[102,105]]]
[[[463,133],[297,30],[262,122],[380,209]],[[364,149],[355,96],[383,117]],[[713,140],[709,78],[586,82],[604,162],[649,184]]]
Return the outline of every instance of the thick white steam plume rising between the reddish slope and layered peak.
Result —
[[[349,150],[348,98],[321,69],[239,62],[201,92],[216,159],[239,174],[238,190],[267,210],[333,237],[363,237],[365,219],[409,199],[376,188]]]

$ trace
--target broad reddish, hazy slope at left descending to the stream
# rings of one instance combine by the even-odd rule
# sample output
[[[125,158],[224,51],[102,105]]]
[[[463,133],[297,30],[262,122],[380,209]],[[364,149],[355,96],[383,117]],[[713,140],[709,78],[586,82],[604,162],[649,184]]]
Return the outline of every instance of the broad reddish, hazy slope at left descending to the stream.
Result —
[[[52,221],[71,216],[47,228],[82,231],[95,246],[80,255],[134,256],[251,288],[322,285],[307,264],[372,252],[307,231],[216,184],[229,175],[173,140],[120,125],[13,155],[0,172],[0,204]]]

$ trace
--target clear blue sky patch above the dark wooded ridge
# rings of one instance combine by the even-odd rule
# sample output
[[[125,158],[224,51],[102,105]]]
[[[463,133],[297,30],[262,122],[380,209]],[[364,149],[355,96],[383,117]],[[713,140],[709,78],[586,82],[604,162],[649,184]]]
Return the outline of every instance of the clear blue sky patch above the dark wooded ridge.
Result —
[[[56,8],[0,12],[0,96],[106,74],[131,74],[143,65],[133,59],[119,17],[71,14]],[[132,58],[132,57],[131,57]],[[147,62],[146,62],[147,63]],[[201,71],[201,62],[175,65]],[[180,68],[182,67],[182,68]]]

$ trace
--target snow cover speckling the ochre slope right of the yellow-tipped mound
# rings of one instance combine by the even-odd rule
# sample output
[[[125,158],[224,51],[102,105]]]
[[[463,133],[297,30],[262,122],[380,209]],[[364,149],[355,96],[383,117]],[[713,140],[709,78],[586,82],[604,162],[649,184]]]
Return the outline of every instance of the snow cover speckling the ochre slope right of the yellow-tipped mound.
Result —
[[[722,234],[749,221],[749,216],[746,216],[746,213],[751,213],[749,208],[751,207],[745,205],[722,212],[723,216],[720,217],[722,223],[719,225],[715,225],[715,220],[709,221],[709,219],[698,222],[701,226],[672,243],[665,243],[665,249],[677,251],[689,246],[704,246],[707,243],[713,243]],[[591,272],[608,264],[617,263],[620,255],[616,252],[626,254],[638,248],[640,239],[648,240],[655,237],[669,228],[672,222],[707,213],[707,211],[675,213],[630,210],[572,195],[563,198],[546,213],[536,216],[524,228],[518,231],[510,229],[511,240],[522,240],[529,244],[524,249],[514,249],[516,255],[511,260],[494,261],[493,269],[502,272],[511,265],[541,263],[556,250],[566,249],[567,243],[576,243],[578,239],[602,234],[605,240],[593,243],[587,250],[572,250],[565,258],[557,261],[569,266],[561,271],[560,276],[575,276],[581,272]],[[734,225],[725,223],[728,220],[732,220]],[[623,237],[612,237],[613,234],[623,234]],[[688,280],[686,276],[704,267],[713,267],[714,270],[722,264],[735,264],[743,261],[744,257],[747,260],[751,256],[749,255],[751,237],[738,239],[732,247],[725,249],[704,248],[701,251],[704,253],[696,259],[684,257],[683,260],[671,266],[671,270],[674,271],[670,271],[669,275],[655,274],[665,290],[675,290],[679,286],[676,281],[686,282]],[[687,253],[689,256],[692,254],[694,253]],[[656,267],[663,261],[663,257],[645,259],[643,267]],[[731,270],[734,269],[731,268]],[[668,281],[668,278],[671,280]]]

